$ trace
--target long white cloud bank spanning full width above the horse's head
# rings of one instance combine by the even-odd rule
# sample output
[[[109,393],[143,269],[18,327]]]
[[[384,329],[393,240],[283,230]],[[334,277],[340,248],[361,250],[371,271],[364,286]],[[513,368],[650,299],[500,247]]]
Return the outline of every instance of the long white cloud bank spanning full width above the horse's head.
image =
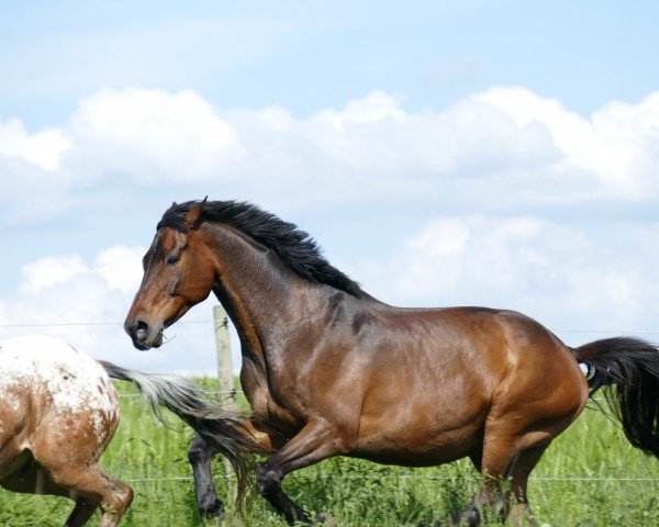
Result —
[[[190,90],[103,89],[59,128],[30,135],[16,120],[0,127],[0,199],[14,223],[25,220],[26,197],[47,217],[109,186],[126,202],[144,189],[165,199],[176,189],[179,200],[248,189],[282,210],[400,199],[428,213],[439,199],[480,212],[607,210],[657,198],[658,122],[659,92],[587,119],[525,88],[422,112],[377,91],[300,119],[281,106],[221,110]],[[22,187],[9,183],[16,180]],[[300,189],[305,200],[291,201]]]

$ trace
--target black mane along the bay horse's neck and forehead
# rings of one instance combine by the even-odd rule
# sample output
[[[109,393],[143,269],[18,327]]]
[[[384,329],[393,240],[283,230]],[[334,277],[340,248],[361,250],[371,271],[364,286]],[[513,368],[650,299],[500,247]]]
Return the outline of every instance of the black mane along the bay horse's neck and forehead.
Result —
[[[199,203],[188,201],[172,204],[157,228],[169,227],[188,233],[186,213]],[[287,267],[310,282],[326,283],[356,298],[361,294],[359,284],[333,267],[308,233],[256,205],[237,201],[209,201],[203,205],[201,221],[222,223],[241,231],[273,250]]]

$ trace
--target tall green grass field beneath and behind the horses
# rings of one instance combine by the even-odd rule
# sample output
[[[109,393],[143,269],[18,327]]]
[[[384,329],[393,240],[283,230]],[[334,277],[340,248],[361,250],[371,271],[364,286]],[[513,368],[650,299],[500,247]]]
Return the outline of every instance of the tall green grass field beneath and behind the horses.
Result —
[[[213,380],[204,380],[216,389]],[[187,449],[192,434],[172,417],[177,429],[157,423],[132,386],[118,383],[122,423],[102,458],[110,474],[129,482],[135,501],[122,526],[199,526]],[[221,496],[227,485],[216,460]],[[308,511],[324,512],[342,527],[402,526],[440,518],[471,497],[476,473],[466,461],[433,469],[382,467],[331,459],[289,475],[284,487]],[[529,497],[540,525],[659,525],[659,461],[635,450],[617,425],[587,410],[543,457],[532,474]],[[0,490],[0,526],[63,525],[72,503],[52,496]],[[90,525],[98,525],[97,513]],[[247,504],[250,526],[286,524],[260,498]],[[226,526],[243,525],[230,515]],[[495,524],[498,525],[498,524]]]

